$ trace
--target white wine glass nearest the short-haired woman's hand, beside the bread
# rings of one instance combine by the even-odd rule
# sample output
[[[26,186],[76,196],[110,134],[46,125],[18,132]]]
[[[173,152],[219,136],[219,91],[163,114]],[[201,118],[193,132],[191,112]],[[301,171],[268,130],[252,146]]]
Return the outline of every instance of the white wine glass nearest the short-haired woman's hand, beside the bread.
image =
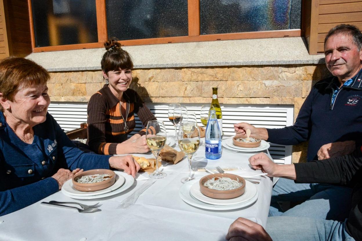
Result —
[[[167,176],[166,173],[161,172],[158,168],[158,156],[161,149],[165,146],[166,139],[167,134],[163,121],[148,121],[146,128],[147,146],[150,147],[152,154],[156,158],[156,171],[150,174],[151,178],[159,179]]]

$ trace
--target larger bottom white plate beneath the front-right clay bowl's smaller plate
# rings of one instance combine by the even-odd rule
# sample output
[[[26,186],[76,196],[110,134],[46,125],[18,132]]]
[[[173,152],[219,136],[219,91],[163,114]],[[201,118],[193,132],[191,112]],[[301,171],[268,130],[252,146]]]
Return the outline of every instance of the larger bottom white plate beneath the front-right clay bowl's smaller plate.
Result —
[[[233,209],[246,207],[254,203],[258,199],[258,192],[256,192],[256,195],[252,199],[250,199],[249,201],[245,201],[243,203],[238,203],[233,205],[214,205],[214,204],[203,203],[202,201],[195,199],[190,193],[191,186],[195,182],[199,182],[199,180],[200,179],[195,179],[184,183],[180,187],[180,190],[178,191],[178,194],[185,203],[197,208],[202,208],[207,210],[233,210]]]

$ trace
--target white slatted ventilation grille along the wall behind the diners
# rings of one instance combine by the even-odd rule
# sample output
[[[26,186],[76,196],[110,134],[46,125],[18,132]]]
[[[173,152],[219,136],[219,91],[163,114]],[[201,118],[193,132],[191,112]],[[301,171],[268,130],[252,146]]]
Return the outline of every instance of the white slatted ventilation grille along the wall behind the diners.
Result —
[[[199,125],[200,109],[203,104],[185,104],[188,111],[196,113]],[[168,104],[147,103],[148,108],[158,120],[165,123],[170,132],[174,132],[174,127],[168,120]],[[293,124],[293,106],[292,105],[253,105],[241,106],[237,104],[222,105],[223,112],[223,132],[226,136],[235,134],[233,124],[239,122],[248,122],[256,127],[265,128],[283,128]],[[48,109],[49,113],[55,118],[59,125],[65,130],[79,128],[80,124],[87,122],[87,104],[76,102],[52,102]],[[136,128],[132,134],[137,133],[144,128],[141,121],[135,116]],[[269,152],[271,157],[277,163],[291,163],[291,146],[282,146],[270,144]]]

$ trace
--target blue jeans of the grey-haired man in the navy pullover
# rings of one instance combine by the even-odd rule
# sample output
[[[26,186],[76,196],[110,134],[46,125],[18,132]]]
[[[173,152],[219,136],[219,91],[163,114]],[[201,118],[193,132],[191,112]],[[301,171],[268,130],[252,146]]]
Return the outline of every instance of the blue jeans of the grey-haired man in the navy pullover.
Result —
[[[351,209],[352,188],[319,183],[294,183],[280,178],[271,193],[269,216],[310,217],[343,221]],[[304,201],[283,212],[277,201]]]

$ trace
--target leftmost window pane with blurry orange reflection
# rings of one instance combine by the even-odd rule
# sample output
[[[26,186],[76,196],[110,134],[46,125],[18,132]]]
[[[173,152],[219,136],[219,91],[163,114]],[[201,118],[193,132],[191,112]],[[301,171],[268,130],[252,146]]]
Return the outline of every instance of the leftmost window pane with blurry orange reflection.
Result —
[[[35,46],[98,42],[95,0],[32,0]]]

